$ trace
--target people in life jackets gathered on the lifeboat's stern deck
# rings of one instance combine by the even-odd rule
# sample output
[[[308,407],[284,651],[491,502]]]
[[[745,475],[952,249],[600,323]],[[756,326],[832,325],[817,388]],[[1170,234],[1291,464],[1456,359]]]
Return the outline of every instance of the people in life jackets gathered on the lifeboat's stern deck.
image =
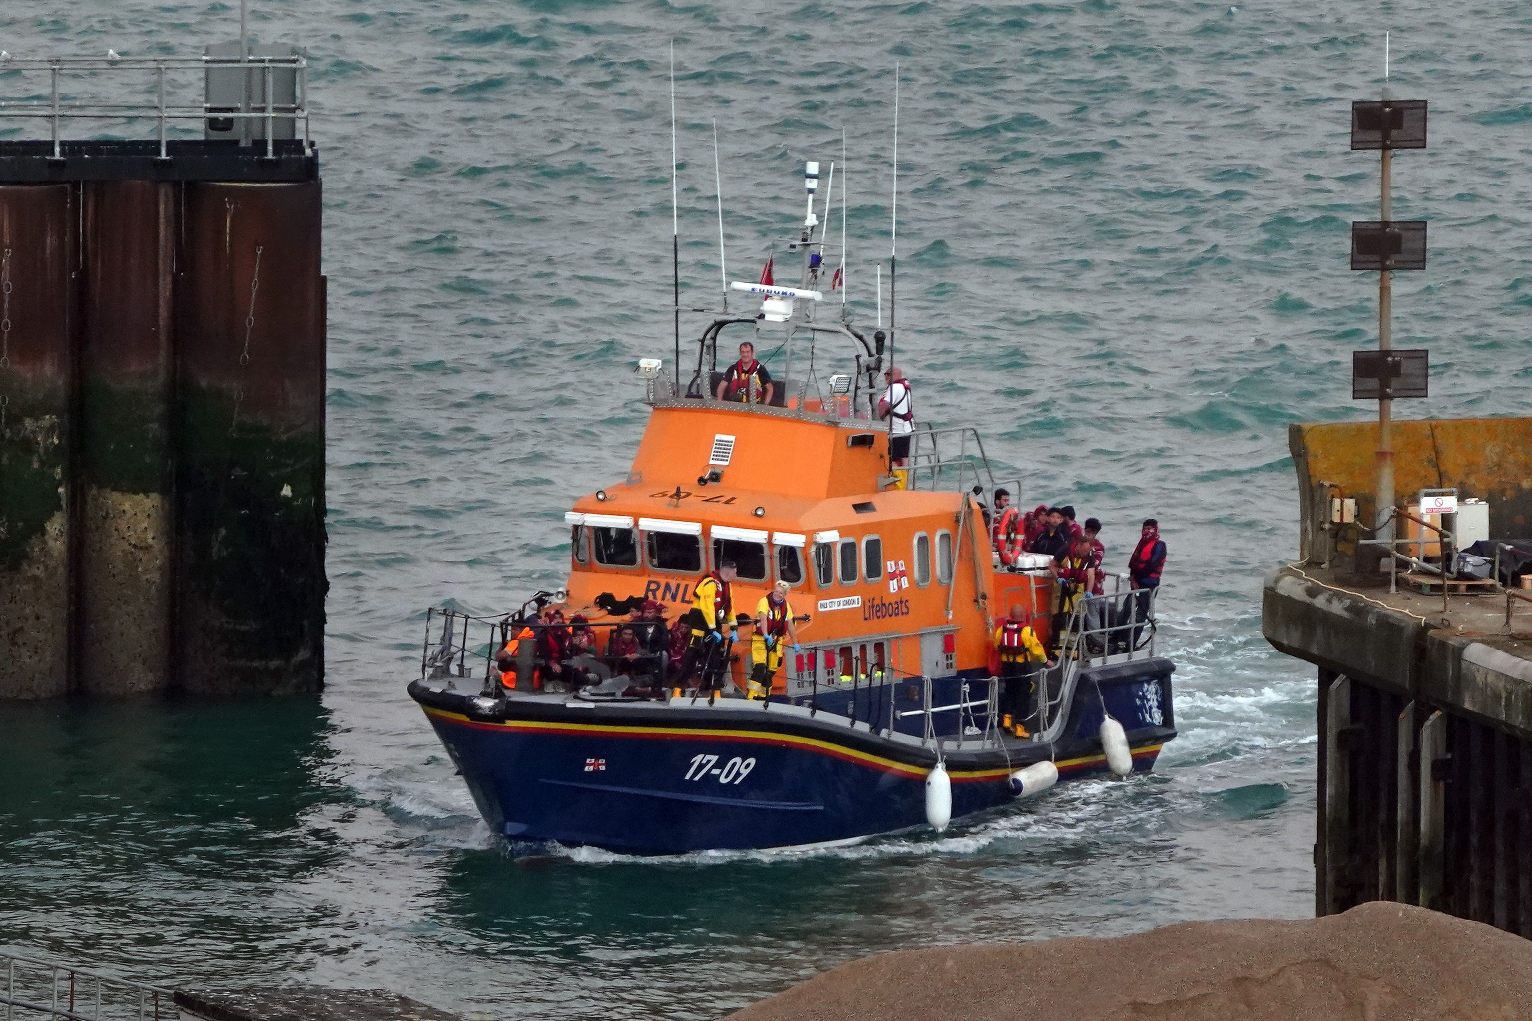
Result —
[[[1086,517],[1075,520],[1074,507],[1048,507],[1039,504],[1022,513],[1011,505],[1011,494],[994,490],[994,505],[988,510],[990,542],[1000,565],[1017,569],[1022,554],[1051,557],[1049,574],[1054,577],[1056,597],[1052,605],[1052,628],[1045,644],[1033,631],[1033,617],[1020,605],[1007,608],[1007,615],[994,629],[994,646],[1000,660],[1000,675],[1008,678],[1002,693],[1002,707],[1010,727],[1019,736],[1026,735],[1022,719],[1031,719],[1037,710],[1037,672],[1042,664],[1054,666],[1059,641],[1069,614],[1085,600],[1085,632],[1088,651],[1126,652],[1138,644],[1143,623],[1154,611],[1154,594],[1164,572],[1166,545],[1160,537],[1160,522],[1149,517],[1140,530],[1138,545],[1128,560],[1129,595],[1118,608],[1115,620],[1109,620],[1109,600],[1105,595],[1103,562],[1106,546],[1100,540],[1102,522]],[[1092,599],[1094,597],[1094,599]],[[1126,621],[1128,628],[1115,628]],[[1092,635],[1092,632],[1097,632]],[[1111,644],[1103,638],[1111,635]]]

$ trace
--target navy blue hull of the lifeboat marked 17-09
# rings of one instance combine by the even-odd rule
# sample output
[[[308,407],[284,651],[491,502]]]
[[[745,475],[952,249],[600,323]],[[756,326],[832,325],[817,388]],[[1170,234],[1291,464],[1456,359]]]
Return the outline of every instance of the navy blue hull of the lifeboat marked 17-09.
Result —
[[[1161,709],[1169,669],[1124,681],[1103,692],[1129,730],[1135,768],[1147,771],[1175,736]],[[1143,698],[1146,684],[1152,700]],[[411,695],[480,813],[513,840],[679,854],[849,842],[925,824],[935,749],[852,730],[829,713],[810,719],[783,707],[590,706],[547,696],[489,709],[489,700],[420,684]],[[1077,736],[1052,750],[1060,778],[1106,770],[1095,741],[1100,700],[1092,692],[1080,701],[1066,730]],[[1151,703],[1158,719],[1131,715]],[[947,744],[953,817],[1008,804],[1010,773],[1048,756],[1033,744],[1003,752]]]

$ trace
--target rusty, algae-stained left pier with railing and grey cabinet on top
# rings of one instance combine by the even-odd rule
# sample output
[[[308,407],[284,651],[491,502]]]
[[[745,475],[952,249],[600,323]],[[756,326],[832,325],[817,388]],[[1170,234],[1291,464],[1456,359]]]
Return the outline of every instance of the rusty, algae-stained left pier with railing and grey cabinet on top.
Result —
[[[6,64],[52,136],[0,141],[0,698],[322,684],[319,153],[273,51]]]

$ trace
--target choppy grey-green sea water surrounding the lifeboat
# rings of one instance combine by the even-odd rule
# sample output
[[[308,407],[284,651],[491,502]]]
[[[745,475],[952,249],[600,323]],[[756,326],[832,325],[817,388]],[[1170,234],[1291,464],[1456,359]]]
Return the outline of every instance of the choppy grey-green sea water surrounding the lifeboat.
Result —
[[[237,5],[14,5],[40,57],[193,54]],[[1287,422],[1367,413],[1348,352],[1376,216],[1348,103],[1431,103],[1396,159],[1396,344],[1411,415],[1527,413],[1532,12],[1428,3],[296,0],[326,190],[329,663],[322,698],[0,709],[0,938],[178,984],[386,986],[495,1018],[712,1018],[863,954],[1305,915],[1313,680],[1259,634],[1296,550]],[[901,361],[918,410],[979,426],[1022,502],[1170,545],[1181,736],[1152,778],[801,856],[512,859],[404,696],[423,608],[559,580],[570,501],[619,478],[666,355],[666,46],[682,259],[714,292],[711,121],[729,259],[801,216],[850,148],[850,295],[887,253],[901,66]],[[0,86],[11,89],[0,75]],[[844,168],[838,168],[838,176]]]

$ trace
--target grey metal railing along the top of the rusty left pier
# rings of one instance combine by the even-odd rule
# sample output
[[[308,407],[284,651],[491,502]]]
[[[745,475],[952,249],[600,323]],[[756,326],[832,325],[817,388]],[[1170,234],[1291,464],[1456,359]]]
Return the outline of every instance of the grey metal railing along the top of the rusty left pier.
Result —
[[[219,70],[239,75],[242,78],[242,101],[237,106],[213,106],[207,103],[207,75]],[[8,72],[21,72],[11,77]],[[187,77],[196,72],[204,81],[196,86],[196,92],[204,96],[202,103],[173,103],[169,96],[172,84],[169,78],[178,73]],[[244,72],[241,75],[241,72]],[[248,121],[264,129],[267,156],[276,156],[276,136],[291,122],[294,127],[302,122],[303,152],[313,152],[309,139],[308,112],[308,61],[300,55],[291,57],[116,57],[109,51],[107,57],[47,57],[38,60],[23,60],[0,55],[0,73],[8,75],[6,92],[17,95],[18,83],[29,81],[37,75],[47,75],[46,98],[40,93],[25,95],[17,99],[0,99],[0,121],[11,118],[46,119],[51,127],[54,142],[54,159],[63,158],[63,126],[74,121],[153,121],[158,127],[159,158],[169,158],[170,126],[201,121],[225,121],[230,126],[236,121]],[[130,95],[133,83],[124,83],[124,77],[142,75],[138,87],[152,90],[152,101],[123,101]],[[285,90],[283,80],[293,77],[293,99],[277,101],[279,89]],[[259,83],[259,90],[257,90]],[[25,86],[21,86],[25,89]],[[84,98],[90,89],[100,89],[107,98]],[[227,129],[225,129],[227,130]]]

